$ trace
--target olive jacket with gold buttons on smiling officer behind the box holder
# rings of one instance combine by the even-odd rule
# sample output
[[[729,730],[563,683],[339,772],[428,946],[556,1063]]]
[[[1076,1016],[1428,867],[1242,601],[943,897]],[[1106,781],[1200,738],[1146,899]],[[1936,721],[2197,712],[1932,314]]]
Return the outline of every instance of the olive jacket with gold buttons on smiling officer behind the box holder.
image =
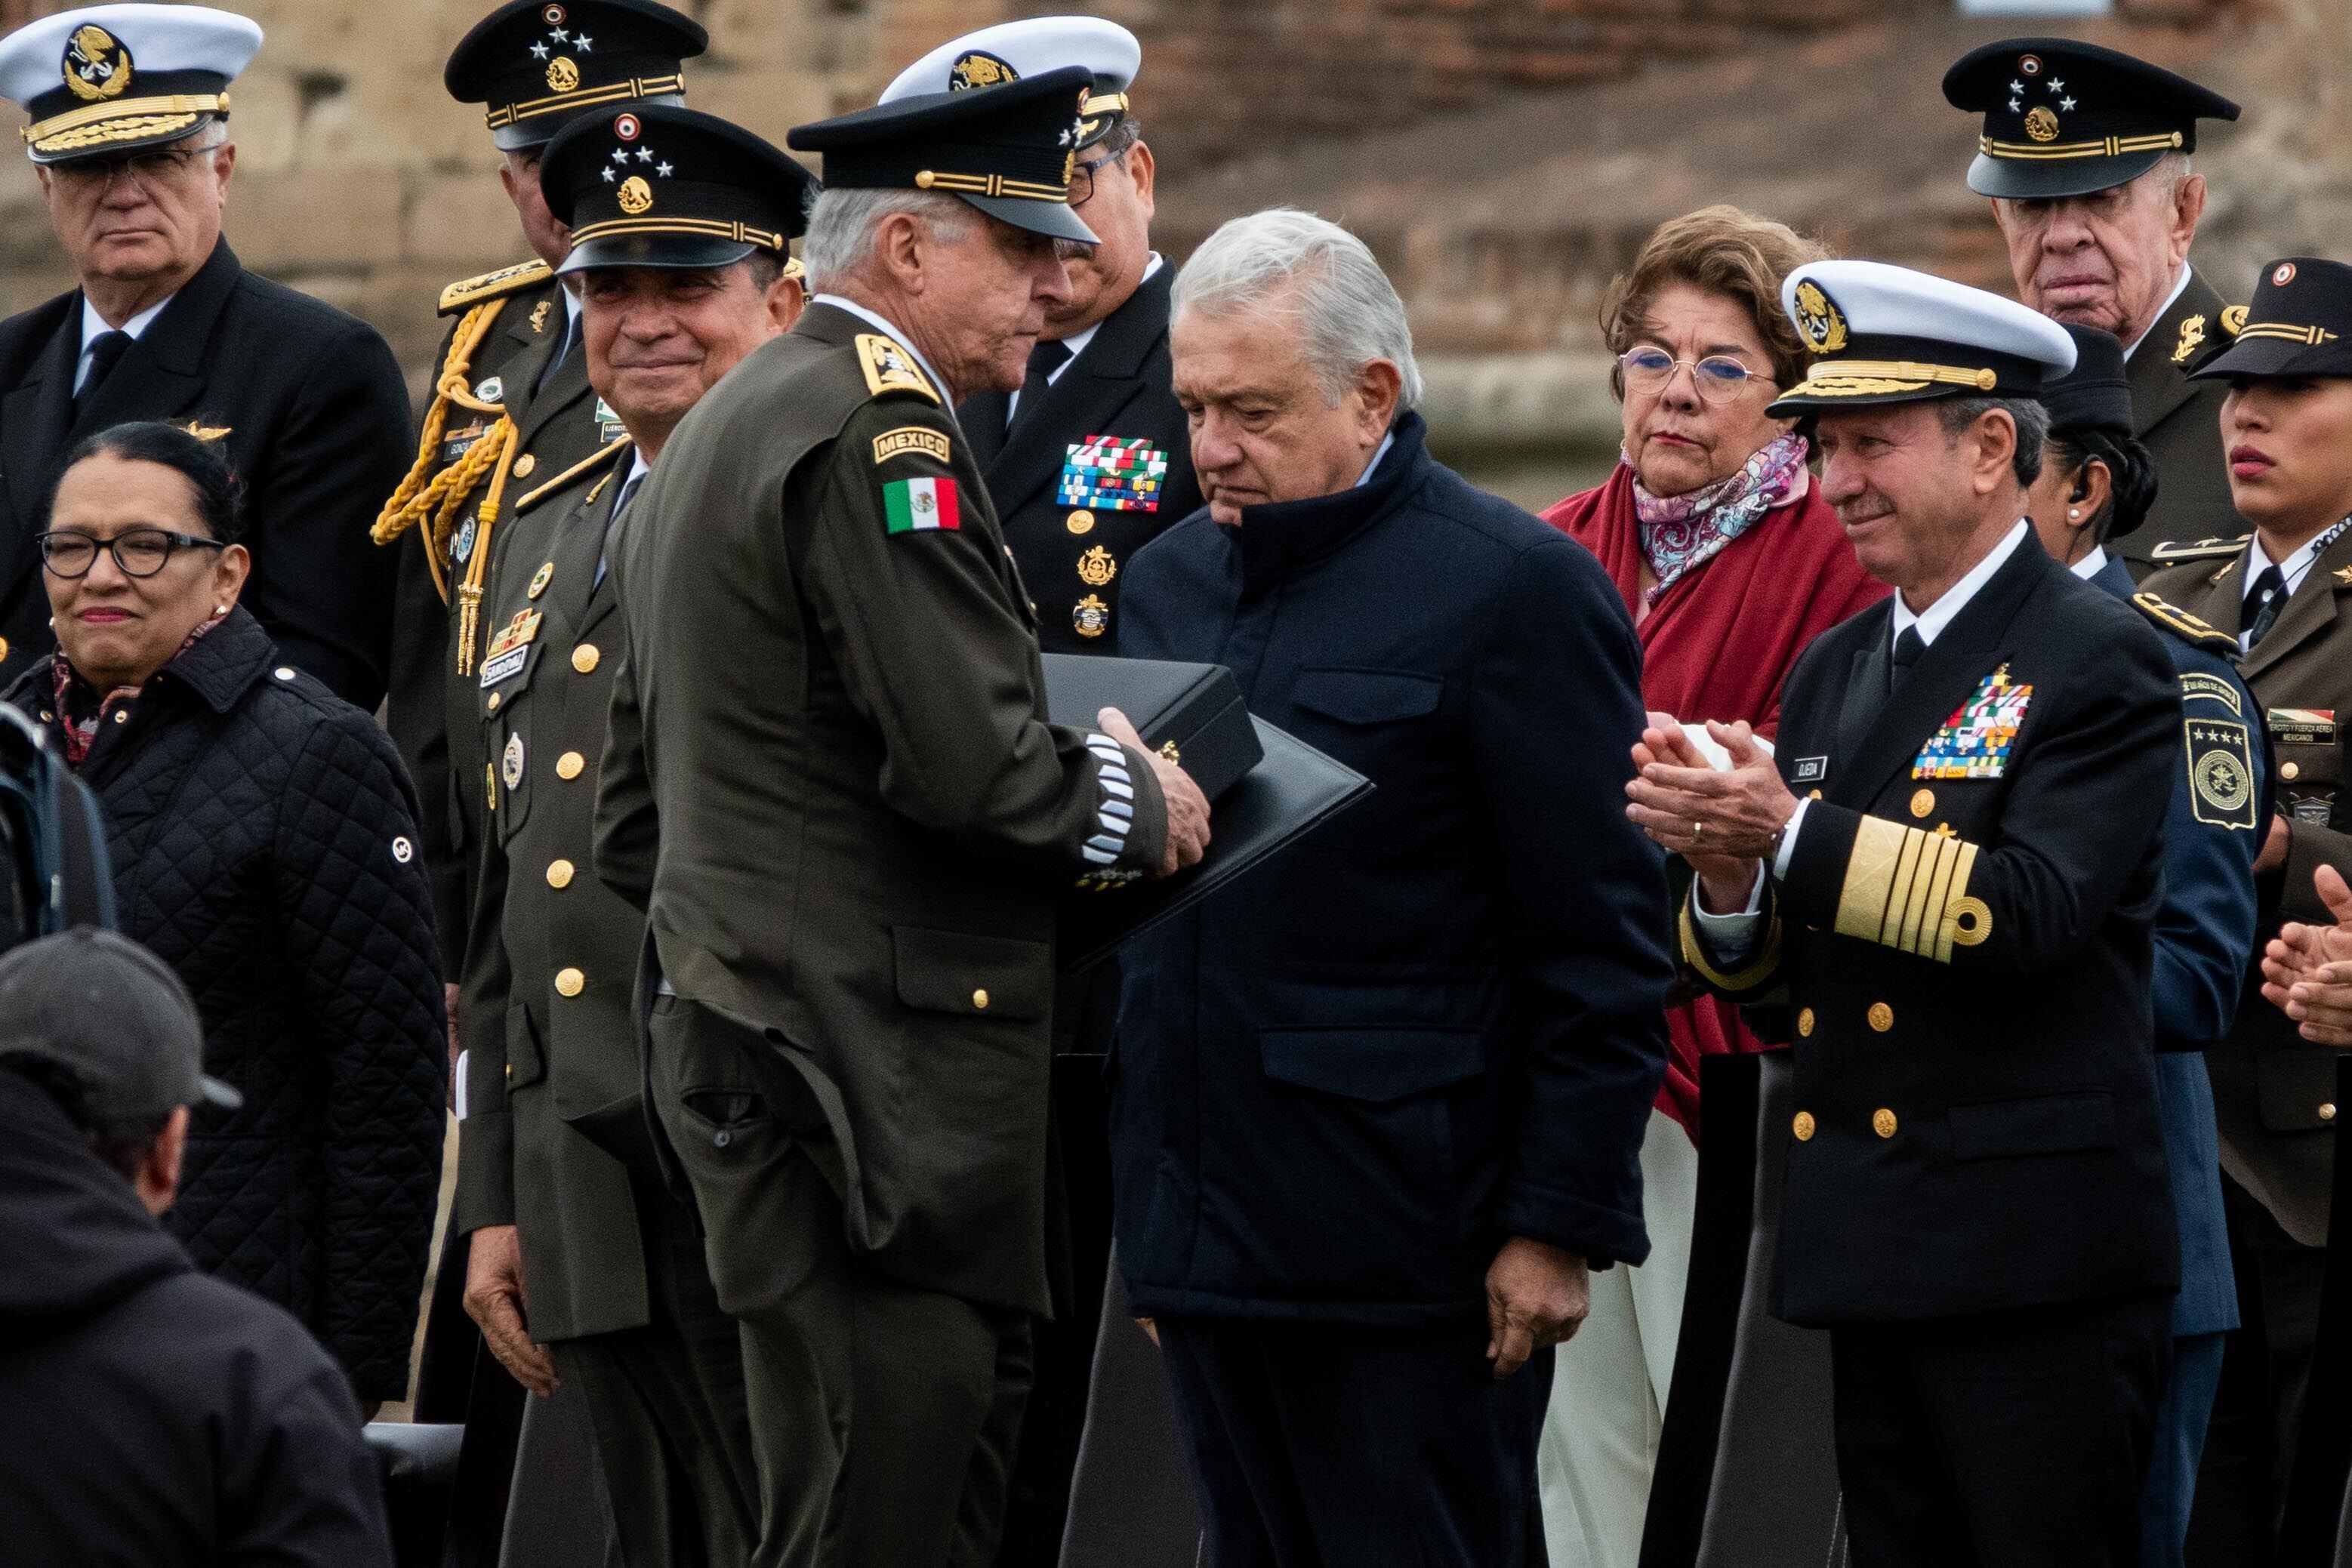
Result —
[[[630,980],[644,914],[590,875],[595,759],[612,705],[612,578],[597,557],[633,447],[614,442],[506,534],[468,682],[489,776],[466,952],[466,1119],[452,1227],[515,1225],[532,1338],[647,1319],[628,1166],[590,1133],[642,1135]]]

